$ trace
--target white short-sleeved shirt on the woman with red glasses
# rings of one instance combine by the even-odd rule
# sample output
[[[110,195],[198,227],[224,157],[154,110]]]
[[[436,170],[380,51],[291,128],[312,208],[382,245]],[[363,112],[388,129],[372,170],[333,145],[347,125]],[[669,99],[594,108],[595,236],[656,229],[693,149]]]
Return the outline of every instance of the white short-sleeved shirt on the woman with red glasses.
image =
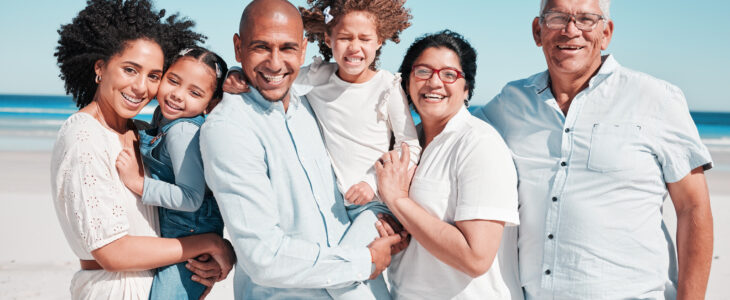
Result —
[[[410,198],[454,224],[505,222],[491,268],[477,278],[450,267],[417,240],[389,268],[395,299],[522,299],[517,273],[517,174],[496,130],[462,108],[424,149]]]

